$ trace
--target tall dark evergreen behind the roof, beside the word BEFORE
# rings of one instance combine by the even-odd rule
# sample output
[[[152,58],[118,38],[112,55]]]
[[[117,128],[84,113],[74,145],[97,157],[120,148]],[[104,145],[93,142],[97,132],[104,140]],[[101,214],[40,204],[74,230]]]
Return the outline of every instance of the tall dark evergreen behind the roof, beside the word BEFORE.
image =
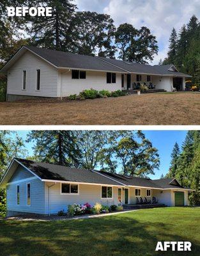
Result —
[[[33,6],[52,7],[51,17],[28,17],[31,22],[28,33],[31,34],[33,44],[48,49],[68,51],[72,44],[72,18],[75,14],[76,5],[72,0],[34,0]]]

